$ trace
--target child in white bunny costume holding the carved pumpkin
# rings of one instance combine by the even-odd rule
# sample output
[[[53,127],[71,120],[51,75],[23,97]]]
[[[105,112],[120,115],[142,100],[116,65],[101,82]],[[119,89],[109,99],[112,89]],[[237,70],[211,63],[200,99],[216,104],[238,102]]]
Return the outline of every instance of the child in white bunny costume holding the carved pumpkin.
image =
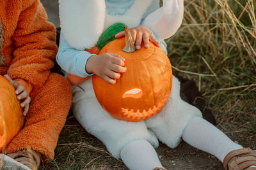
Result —
[[[131,29],[137,50],[141,42],[161,46],[179,29],[183,0],[60,0],[61,38],[57,62],[67,73],[88,77],[72,87],[74,115],[86,131],[100,139],[108,151],[122,159],[129,169],[164,169],[154,147],[159,141],[174,148],[183,139],[191,146],[211,153],[225,169],[256,169],[256,152],[231,141],[202,118],[202,113],[180,99],[180,83],[173,76],[172,92],[163,110],[141,122],[111,117],[98,103],[92,74],[115,84],[125,73],[125,60],[114,53],[95,55],[92,48],[110,25],[122,22]],[[119,32],[115,38],[122,38]],[[159,40],[160,39],[160,40]],[[159,40],[159,43],[157,42]],[[166,52],[167,53],[167,52]]]

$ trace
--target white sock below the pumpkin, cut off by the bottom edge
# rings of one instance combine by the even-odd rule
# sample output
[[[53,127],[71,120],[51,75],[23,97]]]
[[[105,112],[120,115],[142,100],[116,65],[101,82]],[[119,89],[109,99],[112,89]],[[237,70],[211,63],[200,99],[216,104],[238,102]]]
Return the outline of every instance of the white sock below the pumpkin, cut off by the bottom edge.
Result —
[[[154,147],[146,140],[132,141],[121,150],[124,164],[132,170],[148,170],[163,167]]]

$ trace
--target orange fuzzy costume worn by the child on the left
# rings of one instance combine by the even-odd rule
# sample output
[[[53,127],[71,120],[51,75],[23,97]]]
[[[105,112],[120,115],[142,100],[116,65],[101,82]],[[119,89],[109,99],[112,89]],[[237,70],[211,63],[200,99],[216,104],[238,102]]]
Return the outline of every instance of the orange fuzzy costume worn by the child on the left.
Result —
[[[0,74],[8,74],[29,92],[31,103],[24,128],[7,153],[31,148],[53,159],[58,136],[72,103],[70,85],[51,73],[56,56],[54,25],[39,0],[0,1]]]

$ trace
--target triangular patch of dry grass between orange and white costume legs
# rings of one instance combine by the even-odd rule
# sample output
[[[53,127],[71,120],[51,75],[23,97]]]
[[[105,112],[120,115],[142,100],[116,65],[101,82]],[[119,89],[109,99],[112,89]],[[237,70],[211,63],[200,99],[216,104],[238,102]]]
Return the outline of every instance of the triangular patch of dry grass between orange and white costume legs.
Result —
[[[72,114],[61,132],[56,155],[40,169],[124,169],[122,161],[112,157],[105,146],[88,134]]]

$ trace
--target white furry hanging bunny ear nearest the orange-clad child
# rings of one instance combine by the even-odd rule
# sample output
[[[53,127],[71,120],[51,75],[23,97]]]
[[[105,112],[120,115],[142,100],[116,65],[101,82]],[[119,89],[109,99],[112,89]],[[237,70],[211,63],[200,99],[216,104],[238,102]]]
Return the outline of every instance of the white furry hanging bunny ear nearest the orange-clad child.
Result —
[[[68,44],[77,50],[92,48],[104,29],[105,0],[59,0],[60,24]]]

